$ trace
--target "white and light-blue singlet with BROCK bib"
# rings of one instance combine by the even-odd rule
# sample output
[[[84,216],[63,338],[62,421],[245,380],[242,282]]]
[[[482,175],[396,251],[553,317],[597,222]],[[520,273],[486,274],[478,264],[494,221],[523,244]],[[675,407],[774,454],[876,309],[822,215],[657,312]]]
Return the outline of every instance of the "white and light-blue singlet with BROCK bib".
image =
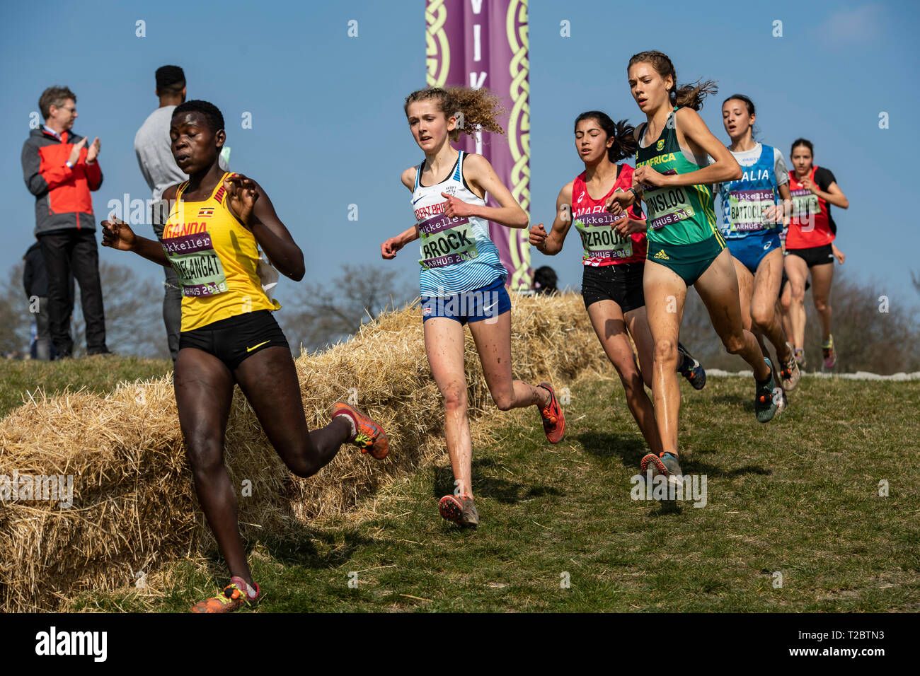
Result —
[[[475,216],[448,218],[443,215],[447,199],[442,192],[467,204],[486,204],[466,185],[463,176],[465,155],[461,150],[449,177],[433,186],[420,184],[425,162],[416,167],[412,209],[420,231],[419,286],[423,296],[471,292],[508,276],[501,264],[498,247],[489,239],[488,221]]]

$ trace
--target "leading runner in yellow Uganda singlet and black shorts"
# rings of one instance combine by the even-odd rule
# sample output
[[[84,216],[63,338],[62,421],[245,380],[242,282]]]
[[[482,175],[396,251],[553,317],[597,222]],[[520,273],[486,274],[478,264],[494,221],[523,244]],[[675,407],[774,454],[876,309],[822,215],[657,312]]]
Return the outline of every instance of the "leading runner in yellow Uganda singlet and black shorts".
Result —
[[[315,475],[342,443],[384,458],[387,437],[371,418],[343,402],[321,430],[307,430],[291,349],[271,315],[281,307],[262,290],[259,246],[287,277],[304,277],[304,254],[256,181],[218,166],[224,117],[206,101],[173,111],[172,153],[189,180],[168,188],[175,203],[156,242],[127,223],[103,221],[103,246],[172,265],[182,285],[182,331],[173,384],[179,426],[188,447],[195,493],[221,554],[230,584],[192,612],[226,613],[256,602],[236,519],[236,492],[224,466],[224,432],[234,384],[239,384],[284,464]]]

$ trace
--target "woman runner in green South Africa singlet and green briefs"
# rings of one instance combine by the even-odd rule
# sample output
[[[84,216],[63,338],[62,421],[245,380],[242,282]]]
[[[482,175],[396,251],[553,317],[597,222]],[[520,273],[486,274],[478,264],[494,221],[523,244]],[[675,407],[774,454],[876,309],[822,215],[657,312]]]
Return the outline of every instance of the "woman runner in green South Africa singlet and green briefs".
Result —
[[[774,390],[778,388],[757,339],[742,327],[738,279],[714,211],[712,184],[742,178],[741,166],[696,112],[703,97],[715,91],[714,83],[697,82],[678,89],[673,63],[661,52],[634,55],[627,74],[632,96],[647,121],[636,130],[633,188],[615,193],[607,209],[621,212],[641,198],[648,212],[643,287],[655,344],[655,418],[664,451],[642,458],[641,469],[644,473],[651,464],[668,476],[669,483],[681,486],[677,462],[681,393],[672,374],[688,286],[696,286],[725,349],[751,365],[759,421],[767,422],[776,415]],[[708,164],[707,155],[714,158],[713,164]]]

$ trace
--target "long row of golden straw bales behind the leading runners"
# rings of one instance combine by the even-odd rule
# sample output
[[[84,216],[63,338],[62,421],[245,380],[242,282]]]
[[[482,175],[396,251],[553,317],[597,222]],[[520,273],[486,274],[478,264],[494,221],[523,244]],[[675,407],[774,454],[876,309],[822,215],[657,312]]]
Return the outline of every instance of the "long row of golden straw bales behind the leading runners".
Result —
[[[606,365],[581,297],[512,299],[514,376],[570,384]],[[470,417],[495,410],[466,332]],[[244,537],[283,533],[353,510],[386,482],[446,453],[443,403],[425,358],[418,307],[378,316],[324,352],[295,361],[307,423],[354,392],[390,436],[384,462],[343,449],[316,476],[291,475],[236,390],[225,460]],[[353,388],[353,390],[352,390]],[[74,503],[0,500],[0,610],[53,611],[83,590],[109,591],[213,537],[198,509],[178,427],[172,378],[106,395],[41,395],[0,421],[0,475],[74,475]],[[244,480],[251,497],[243,497]]]

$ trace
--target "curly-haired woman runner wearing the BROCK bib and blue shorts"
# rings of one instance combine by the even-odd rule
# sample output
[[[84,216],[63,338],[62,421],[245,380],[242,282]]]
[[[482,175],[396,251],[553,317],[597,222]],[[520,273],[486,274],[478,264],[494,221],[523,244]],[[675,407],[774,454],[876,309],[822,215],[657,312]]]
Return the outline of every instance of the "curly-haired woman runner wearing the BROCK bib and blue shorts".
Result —
[[[415,223],[380,245],[385,260],[420,240],[419,286],[425,356],[444,401],[444,441],[454,471],[454,493],[438,503],[441,516],[466,528],[479,522],[473,496],[473,438],[466,402],[469,327],[492,400],[501,410],[537,407],[546,440],[562,441],[566,420],[553,388],[512,375],[511,298],[508,272],[489,223],[526,228],[527,213],[482,155],[454,149],[461,134],[504,133],[500,100],[486,88],[431,87],[412,92],[403,108],[409,131],[425,159],[400,180],[412,192]],[[461,123],[463,120],[463,123]],[[448,169],[448,167],[450,167]],[[425,183],[428,185],[425,185]],[[489,206],[489,201],[498,206]],[[481,351],[480,351],[481,350]]]

